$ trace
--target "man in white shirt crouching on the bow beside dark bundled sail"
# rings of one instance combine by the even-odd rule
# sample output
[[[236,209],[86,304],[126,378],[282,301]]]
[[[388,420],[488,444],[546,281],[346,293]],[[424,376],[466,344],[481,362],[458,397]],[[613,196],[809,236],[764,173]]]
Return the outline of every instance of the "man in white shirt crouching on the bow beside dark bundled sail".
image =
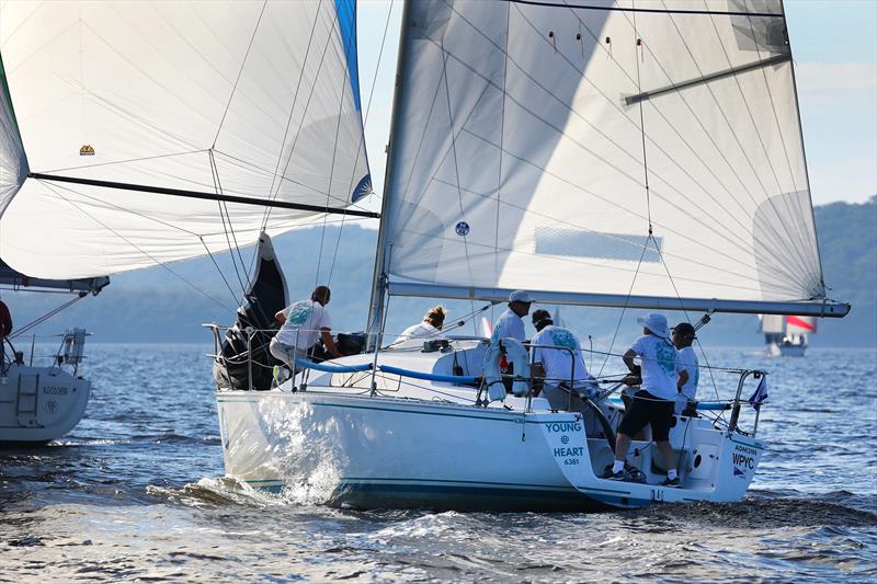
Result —
[[[298,371],[294,357],[307,358],[314,354],[318,337],[322,339],[326,351],[333,357],[343,356],[332,340],[331,321],[326,305],[332,293],[328,286],[317,286],[309,300],[299,300],[274,314],[281,330],[271,340],[269,350],[291,369]]]

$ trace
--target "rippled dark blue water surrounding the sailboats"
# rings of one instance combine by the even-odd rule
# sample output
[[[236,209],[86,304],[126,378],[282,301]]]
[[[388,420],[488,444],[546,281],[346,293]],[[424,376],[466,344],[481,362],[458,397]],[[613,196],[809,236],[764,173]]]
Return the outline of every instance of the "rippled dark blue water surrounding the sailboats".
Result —
[[[87,347],[87,419],[0,451],[0,580],[877,580],[875,351],[710,351],[773,374],[742,503],[463,514],[330,508],[223,478],[207,348]]]

